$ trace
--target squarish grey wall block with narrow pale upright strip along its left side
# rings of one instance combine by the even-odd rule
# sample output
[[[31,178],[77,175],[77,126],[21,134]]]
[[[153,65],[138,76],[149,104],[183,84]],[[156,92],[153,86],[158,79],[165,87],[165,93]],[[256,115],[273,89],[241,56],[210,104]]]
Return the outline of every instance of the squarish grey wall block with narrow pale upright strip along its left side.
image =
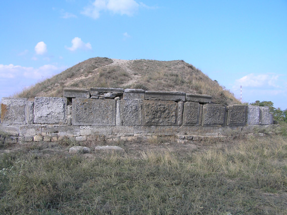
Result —
[[[140,126],[141,100],[117,101],[117,126]]]

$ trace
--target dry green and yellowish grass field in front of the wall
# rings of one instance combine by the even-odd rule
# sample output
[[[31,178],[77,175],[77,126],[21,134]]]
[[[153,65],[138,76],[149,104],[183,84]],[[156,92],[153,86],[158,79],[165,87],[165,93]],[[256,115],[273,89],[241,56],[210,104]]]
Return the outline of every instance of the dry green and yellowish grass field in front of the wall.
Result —
[[[287,214],[287,138],[0,157],[0,214]]]

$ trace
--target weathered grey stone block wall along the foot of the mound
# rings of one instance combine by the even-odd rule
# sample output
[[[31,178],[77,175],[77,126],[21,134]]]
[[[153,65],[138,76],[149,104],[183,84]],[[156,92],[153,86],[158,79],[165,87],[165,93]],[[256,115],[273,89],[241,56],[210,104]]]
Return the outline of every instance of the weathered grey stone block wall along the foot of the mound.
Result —
[[[212,104],[211,96],[119,88],[65,88],[64,97],[2,98],[0,138],[8,142],[179,139],[228,136],[273,124],[268,107]],[[2,137],[4,136],[4,137]]]

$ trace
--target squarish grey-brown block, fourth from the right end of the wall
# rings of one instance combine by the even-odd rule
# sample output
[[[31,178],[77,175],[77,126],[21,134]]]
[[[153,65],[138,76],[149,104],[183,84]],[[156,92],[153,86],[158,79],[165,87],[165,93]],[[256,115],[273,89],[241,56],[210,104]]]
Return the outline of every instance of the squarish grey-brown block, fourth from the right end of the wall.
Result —
[[[203,126],[225,126],[226,106],[221,104],[205,104],[203,108]]]

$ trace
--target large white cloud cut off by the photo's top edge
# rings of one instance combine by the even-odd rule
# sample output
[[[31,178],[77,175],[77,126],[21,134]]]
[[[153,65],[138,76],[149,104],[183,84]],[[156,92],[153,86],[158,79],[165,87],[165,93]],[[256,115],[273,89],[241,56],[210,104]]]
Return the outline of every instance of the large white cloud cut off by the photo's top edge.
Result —
[[[100,11],[106,10],[115,14],[132,16],[138,10],[139,6],[140,4],[135,0],[95,0],[90,5],[84,7],[81,13],[93,19],[99,18]]]

